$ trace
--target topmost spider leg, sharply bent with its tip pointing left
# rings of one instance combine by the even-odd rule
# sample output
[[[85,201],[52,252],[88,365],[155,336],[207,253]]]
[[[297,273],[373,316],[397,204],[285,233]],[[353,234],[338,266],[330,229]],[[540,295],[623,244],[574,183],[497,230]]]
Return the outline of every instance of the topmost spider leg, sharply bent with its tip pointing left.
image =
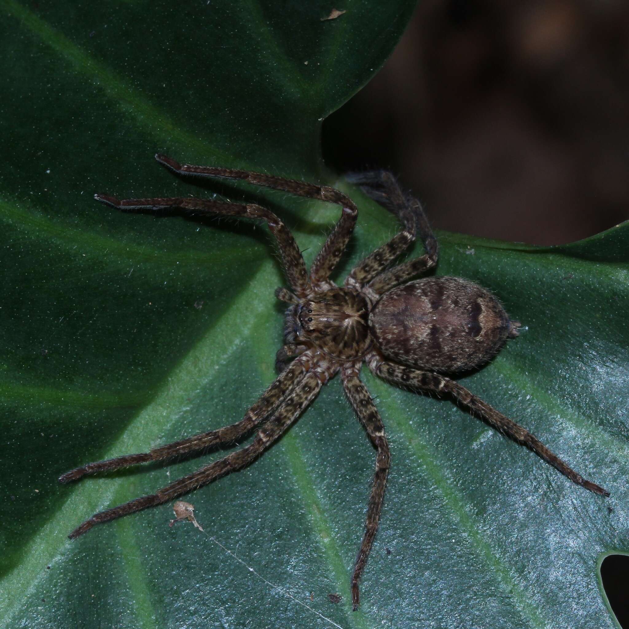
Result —
[[[323,247],[316,255],[315,261],[310,267],[310,279],[313,286],[318,287],[323,284],[322,288],[326,288],[325,284],[328,282],[331,272],[338,264],[338,260],[340,260],[343,255],[345,246],[352,235],[353,228],[358,218],[358,208],[346,194],[330,186],[318,186],[317,184],[309,184],[294,179],[284,179],[284,177],[266,175],[260,172],[250,172],[249,170],[236,170],[221,168],[219,166],[179,164],[166,155],[160,155],[160,153],[155,155],[155,159],[160,162],[160,164],[163,164],[168,169],[180,175],[242,179],[242,181],[254,184],[255,186],[265,186],[276,190],[283,190],[284,192],[290,192],[298,196],[328,201],[329,203],[336,203],[342,206],[343,211],[341,218],[334,226],[330,235],[328,235]]]

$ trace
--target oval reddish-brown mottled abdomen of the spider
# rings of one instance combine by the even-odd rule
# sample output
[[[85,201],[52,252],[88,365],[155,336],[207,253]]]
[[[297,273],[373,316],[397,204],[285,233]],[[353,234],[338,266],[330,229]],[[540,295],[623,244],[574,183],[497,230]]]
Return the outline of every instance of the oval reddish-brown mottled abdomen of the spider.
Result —
[[[484,364],[517,336],[498,299],[460,277],[428,277],[386,292],[369,326],[388,358],[446,373]]]

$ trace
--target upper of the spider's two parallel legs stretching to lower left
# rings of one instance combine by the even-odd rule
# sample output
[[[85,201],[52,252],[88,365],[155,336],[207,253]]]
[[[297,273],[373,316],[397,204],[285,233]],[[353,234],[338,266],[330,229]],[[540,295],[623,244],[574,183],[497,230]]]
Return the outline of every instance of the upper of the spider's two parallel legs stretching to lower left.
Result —
[[[191,454],[192,452],[201,452],[209,448],[217,448],[235,443],[240,438],[250,433],[253,428],[260,425],[260,423],[277,408],[278,404],[281,403],[288,392],[303,378],[304,373],[309,368],[309,364],[310,361],[308,357],[303,357],[301,360],[294,360],[291,366],[282,372],[262,396],[260,396],[257,402],[248,409],[243,419],[237,421],[235,424],[231,424],[231,426],[223,426],[223,428],[218,428],[218,430],[210,430],[200,435],[194,435],[194,437],[169,443],[168,445],[155,448],[150,452],[128,454],[123,457],[116,457],[116,459],[88,463],[82,467],[77,467],[69,472],[65,472],[65,474],[59,477],[59,482],[76,481],[86,476],[86,474],[109,472],[119,469],[120,467],[129,467],[130,465],[152,461],[166,461],[182,455]]]

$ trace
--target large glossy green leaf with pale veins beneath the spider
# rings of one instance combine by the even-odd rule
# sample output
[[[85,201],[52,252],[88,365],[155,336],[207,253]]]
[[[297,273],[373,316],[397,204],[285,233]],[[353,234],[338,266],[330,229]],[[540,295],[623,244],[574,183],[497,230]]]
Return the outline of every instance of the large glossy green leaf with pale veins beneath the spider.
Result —
[[[629,225],[555,248],[440,235],[438,272],[481,282],[525,326],[465,386],[611,498],[365,373],[392,470],[357,613],[374,452],[338,380],[259,462],[189,496],[208,535],[169,528],[164,506],[66,538],[200,460],[73,486],[60,473],[240,419],[282,331],[264,228],[121,214],[92,194],[257,199],[311,260],[338,209],[194,187],[152,155],[337,183],[360,204],[342,277],[396,226],[323,170],[321,119],[382,64],[412,4],[348,0],[321,21],[330,4],[0,0],[1,626],[330,626],[286,592],[343,628],[614,625],[597,562],[629,551]]]

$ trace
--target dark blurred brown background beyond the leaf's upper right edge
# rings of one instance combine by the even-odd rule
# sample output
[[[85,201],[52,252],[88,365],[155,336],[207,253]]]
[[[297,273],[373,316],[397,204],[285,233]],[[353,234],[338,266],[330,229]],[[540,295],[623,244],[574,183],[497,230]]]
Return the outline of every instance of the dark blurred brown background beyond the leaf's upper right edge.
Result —
[[[391,169],[435,228],[540,245],[629,218],[628,141],[625,0],[421,0],[323,133],[329,166]]]

